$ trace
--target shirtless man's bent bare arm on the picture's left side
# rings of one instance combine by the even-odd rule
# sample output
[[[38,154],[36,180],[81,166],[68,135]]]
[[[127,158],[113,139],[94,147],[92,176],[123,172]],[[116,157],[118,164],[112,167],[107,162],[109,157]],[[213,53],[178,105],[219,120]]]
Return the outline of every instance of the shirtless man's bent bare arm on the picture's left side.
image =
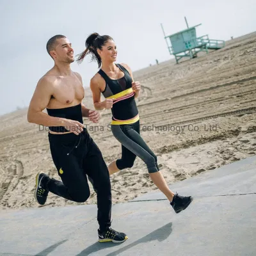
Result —
[[[29,123],[48,127],[62,126],[64,124],[65,118],[49,116],[43,112],[51,99],[52,91],[52,84],[49,78],[42,77],[36,85],[35,92],[29,104],[27,114]]]

